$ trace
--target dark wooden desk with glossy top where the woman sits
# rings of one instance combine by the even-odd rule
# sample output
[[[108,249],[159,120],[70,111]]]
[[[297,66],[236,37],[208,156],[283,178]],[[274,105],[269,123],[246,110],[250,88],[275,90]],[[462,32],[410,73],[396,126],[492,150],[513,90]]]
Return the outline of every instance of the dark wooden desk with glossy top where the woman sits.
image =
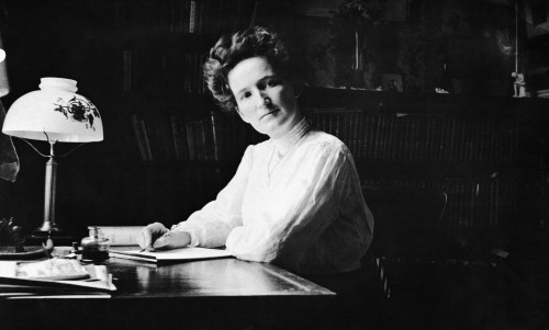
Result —
[[[0,300],[0,329],[306,329],[335,297],[277,266],[236,259],[107,264],[112,298]]]

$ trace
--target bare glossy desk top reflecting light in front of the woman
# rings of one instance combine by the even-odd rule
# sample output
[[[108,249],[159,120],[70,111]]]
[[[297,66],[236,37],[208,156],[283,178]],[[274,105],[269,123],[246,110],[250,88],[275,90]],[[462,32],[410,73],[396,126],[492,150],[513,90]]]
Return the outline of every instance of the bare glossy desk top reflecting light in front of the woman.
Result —
[[[232,258],[171,264],[111,258],[107,266],[114,298],[335,295],[274,265]]]

